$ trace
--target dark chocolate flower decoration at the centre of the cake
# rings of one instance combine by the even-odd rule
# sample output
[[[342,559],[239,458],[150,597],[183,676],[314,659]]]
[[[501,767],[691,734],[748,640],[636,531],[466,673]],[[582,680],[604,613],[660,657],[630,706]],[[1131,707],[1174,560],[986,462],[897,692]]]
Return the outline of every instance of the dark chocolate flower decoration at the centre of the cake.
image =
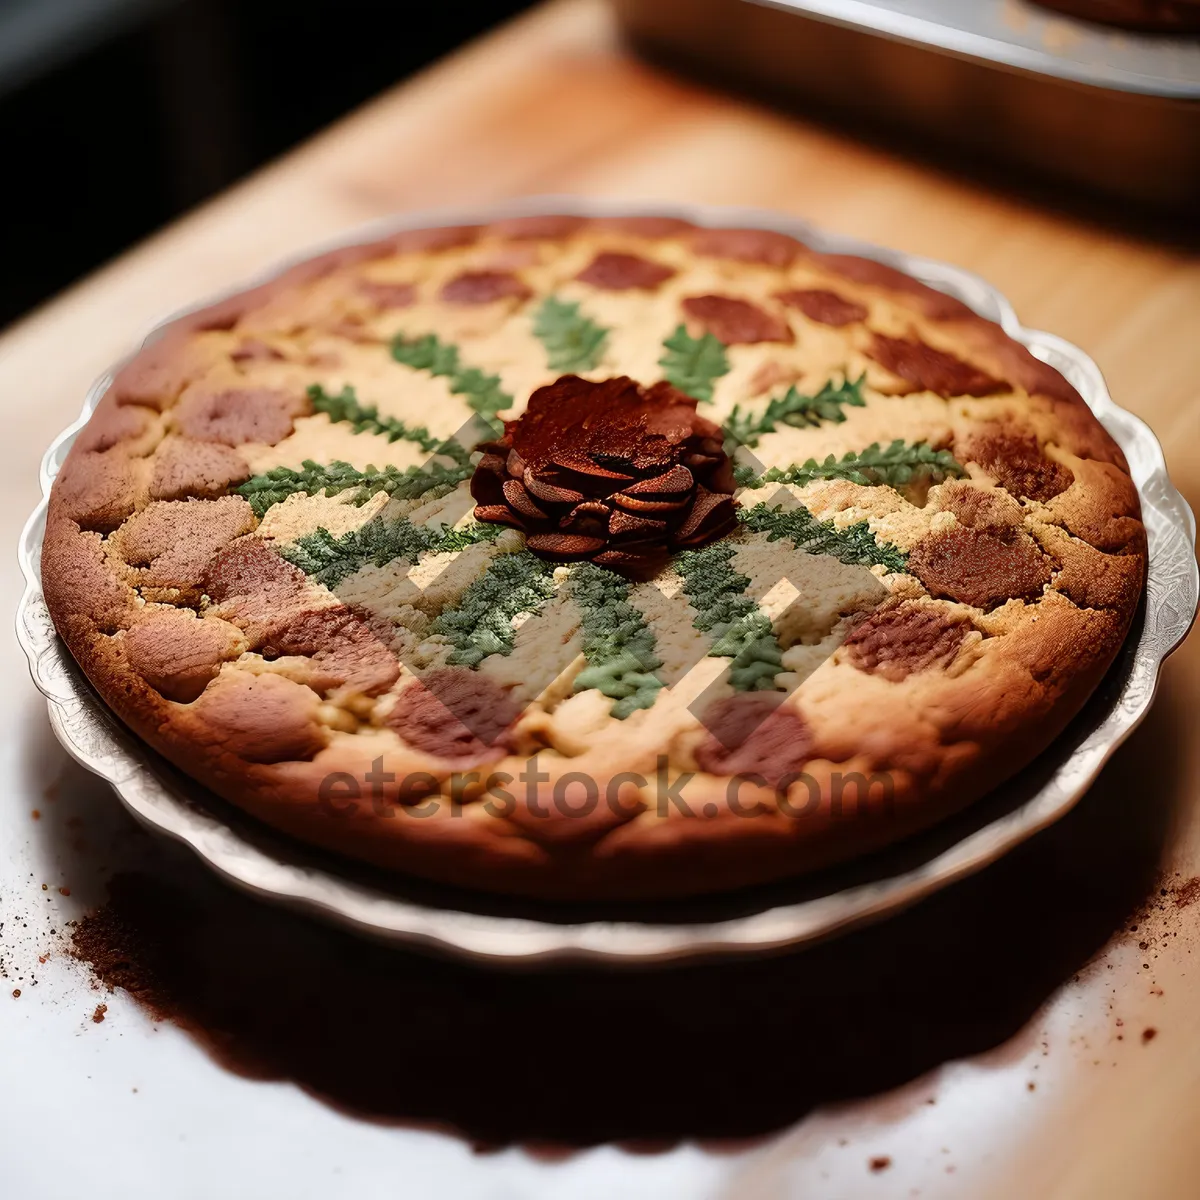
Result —
[[[649,578],[677,550],[734,526],[721,431],[668,383],[563,376],[481,446],[475,518],[512,526],[556,563],[589,559]]]

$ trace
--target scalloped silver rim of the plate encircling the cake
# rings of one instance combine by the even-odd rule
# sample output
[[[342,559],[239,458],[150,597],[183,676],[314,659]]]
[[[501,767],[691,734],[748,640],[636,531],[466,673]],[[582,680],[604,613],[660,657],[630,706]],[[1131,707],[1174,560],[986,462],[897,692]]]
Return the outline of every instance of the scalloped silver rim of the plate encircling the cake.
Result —
[[[17,612],[17,636],[29,659],[34,682],[47,698],[56,737],[77,762],[112,784],[121,802],[140,822],[190,846],[210,868],[245,890],[377,937],[492,964],[570,960],[616,965],[764,953],[845,931],[907,907],[980,870],[1062,817],[1084,796],[1108,758],[1145,718],[1163,661],[1183,641],[1195,618],[1200,599],[1200,574],[1194,553],[1195,520],[1170,481],[1162,446],[1154,434],[1144,421],[1112,401],[1096,362],[1078,347],[1052,334],[1025,329],[1008,300],[970,271],[853,238],[826,234],[798,218],[761,209],[530,197],[506,204],[422,211],[372,222],[292,256],[248,283],[229,288],[202,305],[170,314],[154,326],[143,344],[187,312],[265,282],[313,254],[402,229],[485,222],[536,212],[600,217],[647,211],[682,217],[701,226],[740,224],[776,229],[817,250],[857,253],[896,266],[998,322],[1031,353],[1070,379],[1124,450],[1141,494],[1150,538],[1146,622],[1129,677],[1106,716],[1032,799],[974,830],[920,866],[826,896],[709,924],[588,922],[566,925],[437,908],[274,858],[244,841],[215,816],[203,814],[180,799],[154,773],[139,752],[140,743],[133,734],[119,727],[98,701],[72,678],[67,666],[70,656],[55,635],[42,599],[40,551],[50,486],[76,434],[108,389],[120,366],[118,364],[91,386],[78,420],[59,434],[42,460],[43,498],[26,522],[20,540],[25,590]]]

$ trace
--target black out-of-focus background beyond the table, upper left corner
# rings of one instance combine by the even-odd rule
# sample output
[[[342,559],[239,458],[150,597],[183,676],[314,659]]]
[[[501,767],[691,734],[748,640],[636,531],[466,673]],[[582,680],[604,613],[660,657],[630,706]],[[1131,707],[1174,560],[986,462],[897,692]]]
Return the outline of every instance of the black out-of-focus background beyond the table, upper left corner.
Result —
[[[0,0],[0,326],[532,0]]]

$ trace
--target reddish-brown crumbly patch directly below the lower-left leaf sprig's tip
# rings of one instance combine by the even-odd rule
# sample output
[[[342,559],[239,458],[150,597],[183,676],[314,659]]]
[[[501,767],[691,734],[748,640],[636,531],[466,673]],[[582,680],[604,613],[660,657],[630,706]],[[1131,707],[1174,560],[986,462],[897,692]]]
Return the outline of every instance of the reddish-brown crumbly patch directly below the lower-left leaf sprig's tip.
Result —
[[[316,691],[346,689],[378,696],[400,678],[396,656],[348,608],[304,612],[266,635],[265,659],[302,655],[312,670],[305,683]]]

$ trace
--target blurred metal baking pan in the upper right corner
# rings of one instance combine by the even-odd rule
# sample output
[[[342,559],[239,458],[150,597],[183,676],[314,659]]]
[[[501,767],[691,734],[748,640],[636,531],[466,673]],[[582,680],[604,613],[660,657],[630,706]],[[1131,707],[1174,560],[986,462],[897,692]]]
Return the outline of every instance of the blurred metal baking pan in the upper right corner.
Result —
[[[1156,209],[1200,205],[1200,38],[1032,0],[612,0],[630,40],[757,90]]]

